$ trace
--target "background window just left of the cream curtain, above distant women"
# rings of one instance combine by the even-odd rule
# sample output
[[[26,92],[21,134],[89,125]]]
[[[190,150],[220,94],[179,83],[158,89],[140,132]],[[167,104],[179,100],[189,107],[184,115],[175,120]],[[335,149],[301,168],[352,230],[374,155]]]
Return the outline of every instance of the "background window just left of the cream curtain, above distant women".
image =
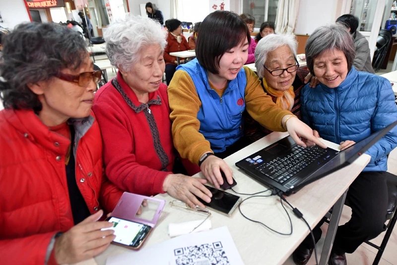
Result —
[[[255,27],[265,21],[276,21],[278,0],[243,0],[243,13],[255,17]]]

